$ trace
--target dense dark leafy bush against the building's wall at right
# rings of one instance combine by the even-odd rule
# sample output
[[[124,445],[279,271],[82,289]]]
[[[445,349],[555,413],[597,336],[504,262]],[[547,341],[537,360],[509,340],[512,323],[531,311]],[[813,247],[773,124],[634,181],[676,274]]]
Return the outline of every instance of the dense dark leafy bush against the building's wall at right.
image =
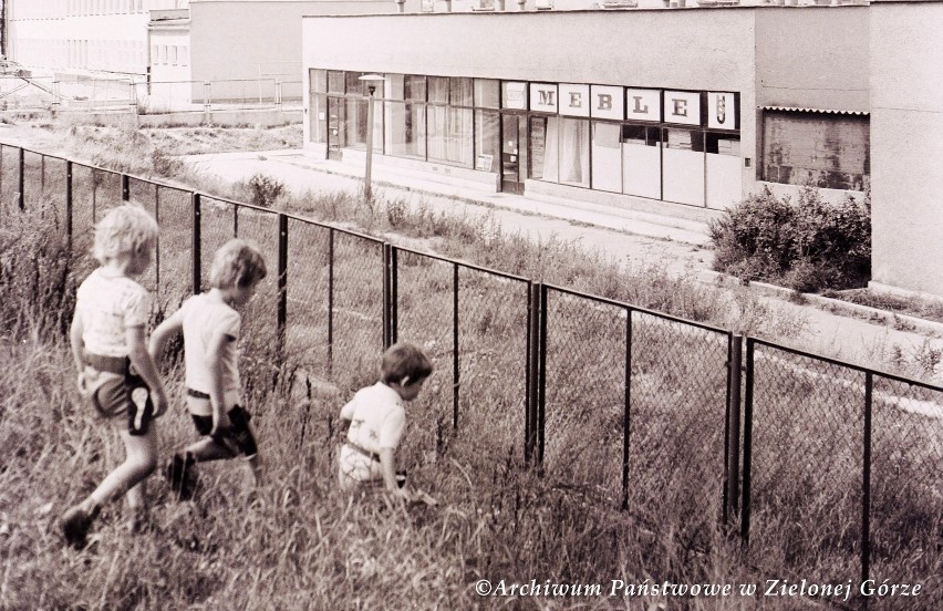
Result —
[[[871,207],[849,196],[823,201],[804,188],[798,201],[766,188],[709,226],[714,269],[810,292],[867,284],[871,276]]]

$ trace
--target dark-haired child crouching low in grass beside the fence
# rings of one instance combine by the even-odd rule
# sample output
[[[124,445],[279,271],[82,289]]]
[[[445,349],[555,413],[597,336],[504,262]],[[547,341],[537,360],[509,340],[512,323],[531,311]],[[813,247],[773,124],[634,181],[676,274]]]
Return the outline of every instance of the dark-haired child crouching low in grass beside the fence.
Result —
[[[341,420],[350,423],[338,459],[341,489],[382,486],[412,497],[396,479],[396,448],[406,428],[405,403],[418,396],[432,372],[428,358],[411,343],[383,353],[380,381],[357,391],[341,410]]]

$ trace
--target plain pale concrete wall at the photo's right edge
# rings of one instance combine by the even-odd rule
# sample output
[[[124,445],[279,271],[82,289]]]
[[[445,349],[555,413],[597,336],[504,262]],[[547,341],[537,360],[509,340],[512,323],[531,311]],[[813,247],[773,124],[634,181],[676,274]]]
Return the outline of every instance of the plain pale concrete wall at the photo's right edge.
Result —
[[[871,3],[872,278],[943,297],[943,3]]]

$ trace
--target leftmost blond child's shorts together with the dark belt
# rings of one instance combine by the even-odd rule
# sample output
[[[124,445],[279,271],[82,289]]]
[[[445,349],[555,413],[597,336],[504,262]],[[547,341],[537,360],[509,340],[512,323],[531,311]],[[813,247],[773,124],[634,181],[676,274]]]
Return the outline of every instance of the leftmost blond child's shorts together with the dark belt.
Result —
[[[154,420],[151,389],[131,371],[126,358],[86,354],[79,389],[95,411],[108,420],[124,417],[131,435],[146,435]]]

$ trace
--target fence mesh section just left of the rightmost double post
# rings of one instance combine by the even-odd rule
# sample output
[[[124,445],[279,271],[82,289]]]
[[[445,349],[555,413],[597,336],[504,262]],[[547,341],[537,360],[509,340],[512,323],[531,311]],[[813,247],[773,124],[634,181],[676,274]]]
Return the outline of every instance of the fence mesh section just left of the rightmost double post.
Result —
[[[723,514],[730,334],[632,312],[628,506],[692,546]]]

